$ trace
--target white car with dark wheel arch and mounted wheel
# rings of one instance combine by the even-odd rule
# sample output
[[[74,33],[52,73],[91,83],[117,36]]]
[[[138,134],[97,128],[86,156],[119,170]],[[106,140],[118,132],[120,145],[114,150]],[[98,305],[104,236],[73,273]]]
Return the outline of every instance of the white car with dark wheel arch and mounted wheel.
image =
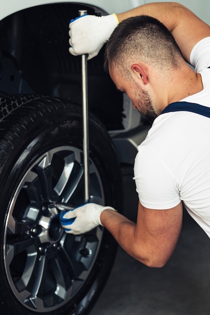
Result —
[[[153,0],[155,2],[155,0]],[[210,3],[183,0],[210,24]],[[0,310],[8,315],[88,314],[114,263],[102,227],[67,236],[58,203],[83,198],[81,56],[68,52],[68,24],[120,13],[145,0],[1,0]],[[120,165],[133,165],[150,123],[103,69],[88,61],[90,199],[120,210]]]

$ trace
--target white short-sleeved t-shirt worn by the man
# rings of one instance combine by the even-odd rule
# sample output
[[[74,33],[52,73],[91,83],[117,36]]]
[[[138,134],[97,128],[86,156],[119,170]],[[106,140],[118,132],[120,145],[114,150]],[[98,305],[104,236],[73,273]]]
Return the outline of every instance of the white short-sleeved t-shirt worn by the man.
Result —
[[[203,90],[182,101],[210,107],[210,37],[195,45],[190,62],[201,74]],[[134,180],[142,205],[169,209],[183,201],[210,238],[210,118],[162,114],[137,149]]]

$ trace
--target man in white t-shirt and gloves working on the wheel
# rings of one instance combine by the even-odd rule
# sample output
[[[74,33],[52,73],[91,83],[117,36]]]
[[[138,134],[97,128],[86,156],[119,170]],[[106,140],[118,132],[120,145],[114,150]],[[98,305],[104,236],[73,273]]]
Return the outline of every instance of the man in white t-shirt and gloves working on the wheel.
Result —
[[[70,28],[75,55],[91,58],[109,39],[105,64],[113,82],[154,122],[134,163],[136,224],[93,203],[63,211],[61,224],[73,234],[101,224],[129,255],[162,267],[180,234],[182,202],[210,237],[210,118],[188,111],[189,103],[210,111],[210,27],[180,4],[154,3],[117,16],[82,17]],[[175,102],[187,109],[170,111]]]

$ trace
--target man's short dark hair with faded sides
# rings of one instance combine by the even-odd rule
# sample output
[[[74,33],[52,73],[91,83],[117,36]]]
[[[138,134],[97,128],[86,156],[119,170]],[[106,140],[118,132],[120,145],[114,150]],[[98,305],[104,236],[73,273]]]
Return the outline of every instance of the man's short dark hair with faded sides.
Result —
[[[177,66],[181,51],[167,27],[149,16],[123,20],[115,28],[105,50],[104,68],[109,64],[124,66],[136,56],[161,68]],[[182,58],[183,60],[183,58]]]

